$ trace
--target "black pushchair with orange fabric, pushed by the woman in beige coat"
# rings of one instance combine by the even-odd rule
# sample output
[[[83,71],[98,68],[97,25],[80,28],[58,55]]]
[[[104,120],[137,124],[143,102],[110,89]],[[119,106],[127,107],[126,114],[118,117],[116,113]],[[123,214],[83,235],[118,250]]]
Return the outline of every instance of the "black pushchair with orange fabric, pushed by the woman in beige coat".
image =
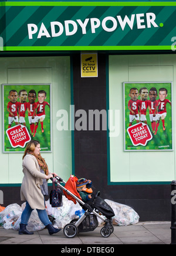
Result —
[[[50,178],[53,180],[53,178]],[[93,231],[99,225],[97,217],[104,221],[104,227],[101,228],[100,234],[102,237],[109,237],[113,231],[112,217],[114,216],[113,209],[100,198],[100,191],[96,195],[92,195],[92,199],[89,203],[84,203],[80,198],[76,189],[76,176],[71,175],[69,180],[65,182],[58,176],[55,177],[55,183],[63,189],[63,193],[67,199],[72,200],[75,204],[79,202],[85,211],[79,219],[73,219],[69,224],[66,224],[63,228],[63,234],[67,238],[75,237],[79,232]],[[63,182],[65,186],[62,186],[60,182]],[[104,216],[101,216],[104,215]]]

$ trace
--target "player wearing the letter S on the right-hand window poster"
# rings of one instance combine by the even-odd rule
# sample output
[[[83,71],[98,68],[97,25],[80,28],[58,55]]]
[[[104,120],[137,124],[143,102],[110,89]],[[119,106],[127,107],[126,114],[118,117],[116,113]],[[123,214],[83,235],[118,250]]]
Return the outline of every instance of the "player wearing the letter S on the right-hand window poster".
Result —
[[[138,98],[138,90],[137,88],[133,87],[130,89],[130,93],[128,94],[128,96],[131,98],[131,100],[128,101],[128,110],[130,110],[130,115],[129,115],[129,119],[130,119],[130,124],[129,126],[132,125],[134,119],[136,119],[136,122],[139,122],[139,114],[138,114],[138,103],[139,100]]]

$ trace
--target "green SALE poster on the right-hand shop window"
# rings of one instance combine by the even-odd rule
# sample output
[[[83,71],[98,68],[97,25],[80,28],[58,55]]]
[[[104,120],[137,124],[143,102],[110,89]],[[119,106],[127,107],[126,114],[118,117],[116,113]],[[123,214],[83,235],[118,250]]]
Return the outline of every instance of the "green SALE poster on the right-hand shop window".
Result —
[[[173,150],[172,82],[124,82],[124,150]]]

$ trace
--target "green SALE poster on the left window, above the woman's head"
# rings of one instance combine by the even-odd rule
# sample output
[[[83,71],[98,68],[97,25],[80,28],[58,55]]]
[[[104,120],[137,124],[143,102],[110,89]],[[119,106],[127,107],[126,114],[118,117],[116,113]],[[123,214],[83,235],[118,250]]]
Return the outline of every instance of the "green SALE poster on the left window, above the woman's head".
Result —
[[[2,84],[4,153],[24,152],[38,140],[51,152],[50,84]]]

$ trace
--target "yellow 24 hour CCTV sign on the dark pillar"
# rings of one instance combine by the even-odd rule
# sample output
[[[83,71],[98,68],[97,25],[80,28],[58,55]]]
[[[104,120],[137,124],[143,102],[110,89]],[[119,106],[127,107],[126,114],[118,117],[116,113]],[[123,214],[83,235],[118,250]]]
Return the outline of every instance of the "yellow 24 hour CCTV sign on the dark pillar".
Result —
[[[81,54],[81,77],[98,77],[97,53]]]

